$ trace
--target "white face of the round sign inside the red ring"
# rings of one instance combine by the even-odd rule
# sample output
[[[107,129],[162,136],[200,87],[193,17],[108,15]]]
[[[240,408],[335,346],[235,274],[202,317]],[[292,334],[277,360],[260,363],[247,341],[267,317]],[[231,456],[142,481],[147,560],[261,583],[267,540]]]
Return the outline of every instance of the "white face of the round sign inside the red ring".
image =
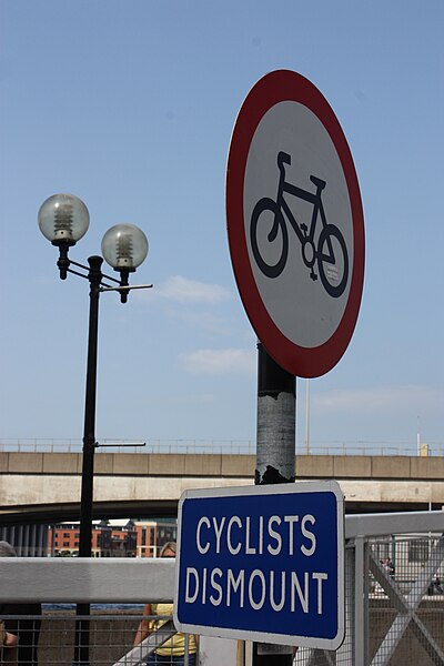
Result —
[[[285,161],[279,160],[283,152]],[[311,178],[322,184],[316,186]],[[273,210],[266,198],[275,202]],[[276,211],[280,223],[271,241]],[[258,125],[246,161],[244,225],[250,263],[270,316],[295,344],[324,344],[347,302],[353,218],[330,134],[300,103],[275,104]],[[334,263],[323,260],[329,241]],[[270,275],[273,269],[279,271],[275,276]],[[289,307],[289,302],[294,306]]]

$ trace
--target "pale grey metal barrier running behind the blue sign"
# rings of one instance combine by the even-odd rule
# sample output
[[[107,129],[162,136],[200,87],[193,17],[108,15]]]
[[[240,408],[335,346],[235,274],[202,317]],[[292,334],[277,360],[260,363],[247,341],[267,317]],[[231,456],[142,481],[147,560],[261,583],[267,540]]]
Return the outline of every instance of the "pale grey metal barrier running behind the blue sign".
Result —
[[[294,665],[443,666],[443,533],[444,512],[346,516],[345,640],[334,653],[300,648]],[[0,604],[10,599],[161,603],[173,598],[174,562],[0,558]],[[49,627],[60,623],[61,647],[59,656],[56,649],[50,660],[41,663],[69,663],[63,660],[63,650],[64,643],[73,640],[73,617],[43,619]],[[101,648],[108,636],[110,647],[103,659],[108,664],[125,664],[124,659],[134,664],[138,655],[131,654],[131,640],[138,618],[130,612],[123,613],[115,620],[119,624],[101,628],[105,625],[100,623],[111,619],[115,618],[92,618]],[[72,657],[72,650],[69,656]],[[93,663],[100,663],[99,656]]]

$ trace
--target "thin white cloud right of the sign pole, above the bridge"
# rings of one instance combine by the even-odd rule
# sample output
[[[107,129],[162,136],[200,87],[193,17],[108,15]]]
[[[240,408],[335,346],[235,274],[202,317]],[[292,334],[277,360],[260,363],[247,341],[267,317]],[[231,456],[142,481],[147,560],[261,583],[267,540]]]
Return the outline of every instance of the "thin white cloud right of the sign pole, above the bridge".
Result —
[[[323,412],[403,412],[444,410],[444,389],[434,386],[377,386],[313,394],[313,406]]]

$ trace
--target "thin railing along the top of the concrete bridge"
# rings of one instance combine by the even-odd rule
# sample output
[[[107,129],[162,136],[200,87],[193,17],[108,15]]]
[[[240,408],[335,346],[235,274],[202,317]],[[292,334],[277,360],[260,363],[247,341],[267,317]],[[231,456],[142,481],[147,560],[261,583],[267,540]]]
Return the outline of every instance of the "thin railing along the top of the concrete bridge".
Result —
[[[100,440],[99,453],[184,453],[254,455],[254,440]],[[0,438],[0,453],[81,453],[81,440],[57,438]],[[406,455],[444,456],[444,443],[422,444],[420,448],[408,442],[313,442],[296,445],[296,455]]]

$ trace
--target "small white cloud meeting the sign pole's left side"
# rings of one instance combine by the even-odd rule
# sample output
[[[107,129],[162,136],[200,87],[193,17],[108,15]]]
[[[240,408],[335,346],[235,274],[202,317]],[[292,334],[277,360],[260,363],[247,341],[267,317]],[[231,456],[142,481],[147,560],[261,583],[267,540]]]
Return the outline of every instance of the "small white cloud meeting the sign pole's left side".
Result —
[[[180,361],[193,374],[252,374],[256,367],[255,350],[196,350]]]

